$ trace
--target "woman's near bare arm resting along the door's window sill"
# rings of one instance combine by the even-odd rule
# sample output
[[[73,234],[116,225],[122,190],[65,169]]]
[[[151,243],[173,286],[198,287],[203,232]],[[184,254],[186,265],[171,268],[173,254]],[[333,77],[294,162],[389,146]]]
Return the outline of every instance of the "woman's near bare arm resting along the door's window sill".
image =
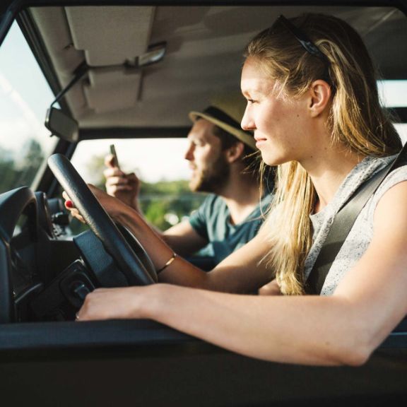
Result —
[[[360,365],[407,313],[406,207],[402,182],[379,201],[370,247],[331,297],[235,295],[158,284],[97,290],[79,316],[155,319],[254,358]]]

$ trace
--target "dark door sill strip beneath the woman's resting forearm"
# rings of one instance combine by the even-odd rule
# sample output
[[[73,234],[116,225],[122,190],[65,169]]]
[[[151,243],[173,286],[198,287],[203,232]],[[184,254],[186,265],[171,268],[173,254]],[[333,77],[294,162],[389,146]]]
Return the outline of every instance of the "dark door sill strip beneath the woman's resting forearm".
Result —
[[[11,350],[69,348],[131,350],[139,346],[193,343],[218,348],[147,319],[0,324],[0,354]],[[406,330],[392,332],[379,347],[404,350],[406,348]]]

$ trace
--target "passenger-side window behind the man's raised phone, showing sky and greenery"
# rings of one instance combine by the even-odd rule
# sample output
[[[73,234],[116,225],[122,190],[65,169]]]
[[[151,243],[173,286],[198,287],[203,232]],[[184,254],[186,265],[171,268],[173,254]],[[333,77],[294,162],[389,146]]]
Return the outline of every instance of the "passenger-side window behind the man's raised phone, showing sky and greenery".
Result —
[[[184,159],[187,138],[81,141],[72,163],[85,182],[105,188],[104,160],[113,143],[120,168],[141,179],[141,210],[156,227],[166,230],[176,225],[204,201],[205,194],[189,190],[190,170]]]

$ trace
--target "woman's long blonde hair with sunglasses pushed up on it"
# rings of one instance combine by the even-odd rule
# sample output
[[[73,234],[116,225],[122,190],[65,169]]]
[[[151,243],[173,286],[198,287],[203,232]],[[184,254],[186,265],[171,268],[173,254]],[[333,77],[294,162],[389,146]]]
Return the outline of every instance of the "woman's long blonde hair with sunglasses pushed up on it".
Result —
[[[401,141],[377,92],[377,77],[367,49],[358,33],[333,16],[305,14],[293,18],[328,60],[315,57],[300,45],[283,24],[256,35],[245,57],[254,59],[288,97],[304,94],[313,81],[326,77],[332,102],[327,126],[331,142],[349,151],[382,157],[401,149]],[[275,273],[281,292],[304,292],[303,271],[312,244],[312,213],[316,192],[302,166],[291,161],[278,166],[276,196],[264,228],[271,250],[264,261]]]

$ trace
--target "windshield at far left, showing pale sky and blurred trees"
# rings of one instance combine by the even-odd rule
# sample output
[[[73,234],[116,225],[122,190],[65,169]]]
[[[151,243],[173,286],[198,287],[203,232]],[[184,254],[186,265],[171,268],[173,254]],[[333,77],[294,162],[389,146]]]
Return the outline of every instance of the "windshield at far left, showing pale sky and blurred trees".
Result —
[[[54,100],[17,23],[0,48],[0,193],[30,186],[56,137],[44,126]]]

